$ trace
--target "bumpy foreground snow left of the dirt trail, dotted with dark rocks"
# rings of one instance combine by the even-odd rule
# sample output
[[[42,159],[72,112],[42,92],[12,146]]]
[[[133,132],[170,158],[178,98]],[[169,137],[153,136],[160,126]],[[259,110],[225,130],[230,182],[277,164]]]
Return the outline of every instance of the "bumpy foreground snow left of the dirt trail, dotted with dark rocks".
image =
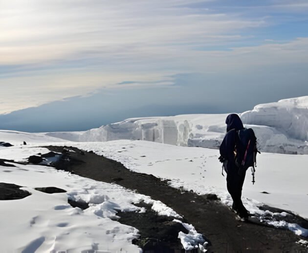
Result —
[[[30,155],[47,152],[40,147],[10,147],[0,150],[0,158],[26,161]],[[162,202],[117,184],[97,182],[41,165],[14,165],[17,167],[0,166],[1,182],[22,185],[32,195],[21,200],[0,201],[0,217],[6,217],[0,220],[1,252],[141,252],[132,245],[138,230],[115,221],[117,210],[144,212],[144,208],[131,204],[144,201],[153,204],[152,209],[159,215],[181,219]],[[46,194],[34,189],[47,186],[67,192]],[[90,207],[73,208],[67,198],[88,202]],[[201,235],[196,231],[194,234],[200,240]],[[191,235],[181,234],[181,240],[187,241],[187,236]],[[191,245],[194,245],[192,239],[190,246],[183,244],[187,249]]]

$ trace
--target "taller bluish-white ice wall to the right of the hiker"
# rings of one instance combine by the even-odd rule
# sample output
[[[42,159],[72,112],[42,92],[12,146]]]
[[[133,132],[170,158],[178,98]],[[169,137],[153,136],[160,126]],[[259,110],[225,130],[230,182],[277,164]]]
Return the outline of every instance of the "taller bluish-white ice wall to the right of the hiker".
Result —
[[[266,152],[308,154],[308,96],[261,104],[241,114]]]

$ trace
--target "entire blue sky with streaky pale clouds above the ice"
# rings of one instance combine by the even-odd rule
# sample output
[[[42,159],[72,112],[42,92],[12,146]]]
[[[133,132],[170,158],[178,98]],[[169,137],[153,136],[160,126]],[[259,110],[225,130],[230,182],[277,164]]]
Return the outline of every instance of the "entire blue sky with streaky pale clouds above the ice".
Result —
[[[307,0],[0,0],[0,129],[308,95]]]

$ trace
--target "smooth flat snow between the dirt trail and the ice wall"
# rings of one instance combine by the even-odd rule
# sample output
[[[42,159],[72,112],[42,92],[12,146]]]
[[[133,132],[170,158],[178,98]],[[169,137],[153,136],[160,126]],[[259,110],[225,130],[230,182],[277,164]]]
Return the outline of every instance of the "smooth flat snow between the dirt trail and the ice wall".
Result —
[[[218,150],[140,140],[81,142],[75,143],[75,146],[119,161],[132,171],[169,179],[171,186],[176,188],[193,190],[198,194],[217,194],[222,203],[232,206],[231,196],[226,190],[225,177],[221,175]],[[265,204],[291,210],[308,218],[308,155],[262,153],[257,161],[256,183],[250,182],[252,177],[248,171],[243,185],[242,201],[245,207],[251,213],[267,218],[270,216],[273,222],[278,214],[265,213],[258,208],[259,206]],[[262,193],[264,191],[269,194]],[[281,216],[283,218],[284,214]],[[307,236],[307,230],[294,224],[272,225]]]

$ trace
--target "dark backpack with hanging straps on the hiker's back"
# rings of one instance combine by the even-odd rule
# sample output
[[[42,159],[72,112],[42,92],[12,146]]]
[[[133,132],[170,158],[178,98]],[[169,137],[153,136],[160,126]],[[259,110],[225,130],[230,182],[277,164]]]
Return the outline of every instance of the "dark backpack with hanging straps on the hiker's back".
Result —
[[[254,183],[255,166],[257,166],[257,153],[260,152],[257,149],[257,138],[251,128],[244,128],[236,131],[235,152],[235,164],[239,168],[239,174],[244,173],[249,167],[252,167],[252,183]]]

